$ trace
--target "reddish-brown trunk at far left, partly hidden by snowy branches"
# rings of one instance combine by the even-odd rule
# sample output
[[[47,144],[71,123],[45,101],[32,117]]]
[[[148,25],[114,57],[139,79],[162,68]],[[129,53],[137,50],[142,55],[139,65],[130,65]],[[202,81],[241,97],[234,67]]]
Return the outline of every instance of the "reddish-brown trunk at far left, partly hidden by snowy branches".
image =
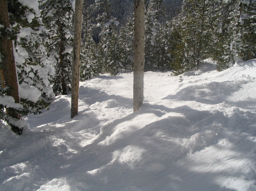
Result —
[[[6,0],[0,0],[0,24],[2,24],[4,28],[10,28],[8,4]],[[3,69],[3,72],[1,72],[2,86],[8,86],[7,96],[12,96],[15,103],[19,103],[20,97],[18,92],[17,71],[13,55],[13,42],[8,38],[7,34],[2,35],[2,38],[0,38],[0,53]],[[19,114],[12,108],[7,109],[7,113],[13,118],[20,119]],[[11,127],[13,132],[22,134],[22,129],[13,125],[11,125]]]

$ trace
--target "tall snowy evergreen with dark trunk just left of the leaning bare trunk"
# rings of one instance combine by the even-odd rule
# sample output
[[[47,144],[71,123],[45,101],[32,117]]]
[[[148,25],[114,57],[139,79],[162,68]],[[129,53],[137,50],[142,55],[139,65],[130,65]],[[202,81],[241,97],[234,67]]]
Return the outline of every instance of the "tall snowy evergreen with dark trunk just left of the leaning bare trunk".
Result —
[[[55,63],[56,70],[53,91],[65,95],[71,90],[72,5],[69,0],[44,0],[42,7],[43,23],[51,34],[51,41],[47,44],[48,56]]]

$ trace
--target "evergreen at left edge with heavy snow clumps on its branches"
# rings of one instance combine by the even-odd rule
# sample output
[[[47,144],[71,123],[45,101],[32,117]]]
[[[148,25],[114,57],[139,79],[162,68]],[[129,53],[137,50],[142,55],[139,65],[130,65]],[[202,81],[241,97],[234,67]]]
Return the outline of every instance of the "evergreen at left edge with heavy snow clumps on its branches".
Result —
[[[6,1],[3,1],[3,3],[6,3]],[[47,38],[45,38],[45,28],[42,26],[41,19],[39,18],[38,1],[34,0],[30,4],[27,1],[10,0],[8,1],[8,11],[10,15],[8,21],[12,26],[10,26],[10,32],[4,34],[4,36],[10,38],[8,42],[10,40],[14,41],[15,49],[13,49],[13,45],[11,45],[11,48],[6,49],[10,50],[9,55],[12,54],[12,57],[14,56],[14,59],[8,58],[8,60],[15,60],[17,67],[15,68],[14,65],[15,72],[13,74],[9,73],[11,69],[5,71],[5,58],[7,57],[1,51],[1,55],[5,55],[2,59],[4,70],[4,75],[1,76],[2,87],[8,86],[7,89],[1,89],[1,96],[3,100],[10,101],[9,103],[1,103],[3,117],[1,119],[6,120],[15,133],[21,134],[25,123],[19,119],[28,113],[39,113],[40,109],[48,106],[48,103],[42,98],[52,99],[55,96],[52,88],[49,86],[49,78],[54,74],[54,70],[48,62],[44,44],[42,43]],[[5,39],[4,36],[3,40]],[[8,42],[4,43],[5,46],[7,46]],[[12,65],[9,63],[8,66]],[[16,69],[18,81],[16,80]],[[12,78],[16,86],[18,85],[17,88],[8,82],[9,77]],[[8,97],[13,95],[10,95],[8,92],[15,89],[18,91],[18,88],[20,97],[19,95],[14,96],[14,102],[13,99]],[[5,93],[7,94],[5,95]],[[15,103],[21,103],[22,106]],[[6,107],[6,114],[3,114],[3,106]]]

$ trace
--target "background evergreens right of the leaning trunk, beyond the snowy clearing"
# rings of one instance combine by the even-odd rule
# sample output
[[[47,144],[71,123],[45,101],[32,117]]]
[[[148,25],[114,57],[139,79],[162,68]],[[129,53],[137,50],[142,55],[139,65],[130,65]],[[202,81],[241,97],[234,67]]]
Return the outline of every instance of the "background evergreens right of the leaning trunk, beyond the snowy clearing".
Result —
[[[107,2],[108,14],[120,12],[119,9],[111,10],[111,1]],[[170,13],[167,2],[176,7],[176,15],[173,11]],[[129,9],[130,3],[123,1],[120,7],[125,4]],[[174,75],[178,75],[200,67],[206,58],[217,61],[216,69],[221,71],[234,64],[237,58],[247,60],[256,56],[255,0],[186,0],[181,6],[180,1],[147,0],[145,3],[144,71],[173,70]],[[88,63],[86,66],[95,66],[98,73],[107,72],[111,75],[133,70],[133,16],[126,25],[122,23],[120,26],[117,25],[118,19],[110,18],[106,13],[107,8],[98,11],[100,14],[90,28],[93,37],[96,26],[100,26],[97,28],[99,42],[94,44],[97,47],[94,53],[97,52],[98,56],[94,56],[94,61],[98,66]],[[99,22],[98,18],[103,15],[108,15],[108,19],[105,17],[104,22]],[[172,19],[167,20],[170,15]],[[110,24],[113,27],[106,28]],[[91,60],[89,56],[87,58]],[[89,67],[87,70],[90,70]],[[95,72],[90,73],[91,76],[97,76]],[[90,77],[83,77],[87,78]]]

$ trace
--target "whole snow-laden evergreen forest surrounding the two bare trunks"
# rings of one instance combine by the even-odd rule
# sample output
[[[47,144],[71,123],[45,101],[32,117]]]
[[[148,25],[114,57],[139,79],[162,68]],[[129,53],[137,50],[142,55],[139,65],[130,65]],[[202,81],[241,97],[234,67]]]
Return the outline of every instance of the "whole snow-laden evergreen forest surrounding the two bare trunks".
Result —
[[[5,19],[1,6],[1,121],[18,134],[22,116],[40,113],[56,95],[71,91],[74,3],[1,0],[8,9]],[[255,58],[255,10],[255,0],[145,1],[144,71],[179,75],[206,58],[223,71],[237,59]],[[133,1],[84,1],[80,81],[132,71],[133,28]],[[14,70],[17,77],[8,81]],[[10,96],[15,89],[20,97]]]

